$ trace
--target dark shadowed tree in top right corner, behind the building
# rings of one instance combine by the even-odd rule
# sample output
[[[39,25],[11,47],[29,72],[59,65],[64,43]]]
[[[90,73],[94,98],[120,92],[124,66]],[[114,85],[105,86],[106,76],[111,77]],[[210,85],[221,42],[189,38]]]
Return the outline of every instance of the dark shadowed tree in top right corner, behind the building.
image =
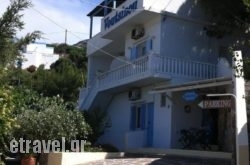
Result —
[[[250,44],[250,0],[199,0],[212,23],[205,30],[207,35],[216,38],[234,36],[228,45],[229,52],[235,49],[249,49]],[[243,54],[244,77],[250,79],[250,58]]]

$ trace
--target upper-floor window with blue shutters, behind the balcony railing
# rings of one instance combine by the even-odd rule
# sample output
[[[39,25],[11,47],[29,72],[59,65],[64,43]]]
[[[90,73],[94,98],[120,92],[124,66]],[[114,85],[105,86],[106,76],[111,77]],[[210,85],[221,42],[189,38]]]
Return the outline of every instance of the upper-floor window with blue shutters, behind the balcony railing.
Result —
[[[148,39],[143,42],[140,42],[139,44],[135,45],[130,52],[130,59],[135,60],[137,58],[140,58],[142,56],[147,55],[147,53],[153,50],[153,40]]]

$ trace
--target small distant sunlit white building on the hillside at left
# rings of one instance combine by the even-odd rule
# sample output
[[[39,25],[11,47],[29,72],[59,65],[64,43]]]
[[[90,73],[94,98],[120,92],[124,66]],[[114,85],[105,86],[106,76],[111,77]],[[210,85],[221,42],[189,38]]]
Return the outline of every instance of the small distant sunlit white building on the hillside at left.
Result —
[[[50,65],[59,59],[58,54],[54,54],[54,48],[45,43],[31,43],[26,46],[23,55],[22,69],[31,65],[39,67],[44,65],[45,69],[50,69]]]

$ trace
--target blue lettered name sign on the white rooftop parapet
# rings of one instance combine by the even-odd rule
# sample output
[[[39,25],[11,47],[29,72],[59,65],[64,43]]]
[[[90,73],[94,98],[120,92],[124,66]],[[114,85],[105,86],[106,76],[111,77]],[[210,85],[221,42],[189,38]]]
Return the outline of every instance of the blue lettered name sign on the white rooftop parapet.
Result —
[[[104,19],[105,30],[115,25],[116,23],[118,23],[120,20],[127,17],[131,13],[135,12],[136,9],[137,9],[137,1],[131,3],[127,7],[123,6],[121,10],[118,10],[114,16],[105,18]]]

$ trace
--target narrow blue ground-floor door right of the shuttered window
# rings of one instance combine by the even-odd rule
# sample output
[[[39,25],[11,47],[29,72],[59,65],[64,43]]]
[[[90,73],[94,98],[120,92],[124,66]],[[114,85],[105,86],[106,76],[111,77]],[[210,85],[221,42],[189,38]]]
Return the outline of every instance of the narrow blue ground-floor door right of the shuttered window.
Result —
[[[147,146],[153,146],[154,131],[154,103],[147,104],[148,120],[147,120]]]

